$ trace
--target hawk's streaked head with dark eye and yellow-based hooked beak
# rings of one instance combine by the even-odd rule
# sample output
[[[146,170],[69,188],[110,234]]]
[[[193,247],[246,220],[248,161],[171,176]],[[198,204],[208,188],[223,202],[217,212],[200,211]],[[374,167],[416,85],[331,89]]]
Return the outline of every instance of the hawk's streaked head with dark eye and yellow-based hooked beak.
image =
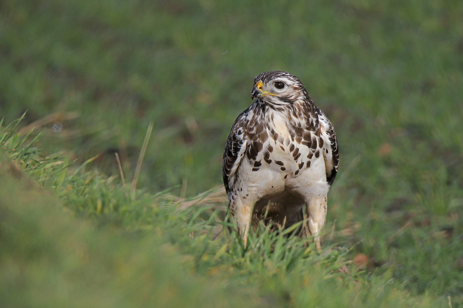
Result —
[[[285,105],[308,98],[299,78],[281,71],[263,72],[254,79],[251,98],[270,105]]]

